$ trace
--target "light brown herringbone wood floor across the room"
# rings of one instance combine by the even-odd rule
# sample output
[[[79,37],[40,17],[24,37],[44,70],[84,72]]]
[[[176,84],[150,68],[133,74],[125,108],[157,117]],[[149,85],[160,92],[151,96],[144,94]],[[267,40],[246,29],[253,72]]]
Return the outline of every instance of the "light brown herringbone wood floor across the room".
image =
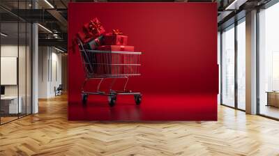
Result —
[[[0,126],[0,155],[279,155],[279,122],[222,106],[218,122],[73,122],[60,96]]]

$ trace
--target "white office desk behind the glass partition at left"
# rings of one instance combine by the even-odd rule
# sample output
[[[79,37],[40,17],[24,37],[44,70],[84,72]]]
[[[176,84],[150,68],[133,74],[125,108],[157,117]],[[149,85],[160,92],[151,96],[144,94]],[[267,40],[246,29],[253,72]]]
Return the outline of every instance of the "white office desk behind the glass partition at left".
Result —
[[[20,96],[18,99],[20,101],[17,107],[17,96],[1,97],[1,111],[3,111],[4,114],[22,113],[22,97]]]

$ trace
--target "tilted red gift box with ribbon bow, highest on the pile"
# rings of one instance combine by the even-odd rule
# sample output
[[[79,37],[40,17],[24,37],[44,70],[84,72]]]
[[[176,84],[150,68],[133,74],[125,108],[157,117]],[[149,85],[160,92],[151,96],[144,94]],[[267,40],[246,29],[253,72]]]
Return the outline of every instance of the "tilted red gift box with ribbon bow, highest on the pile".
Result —
[[[84,32],[88,33],[93,38],[98,38],[98,36],[105,33],[105,29],[97,18],[94,18],[89,23],[84,24]]]

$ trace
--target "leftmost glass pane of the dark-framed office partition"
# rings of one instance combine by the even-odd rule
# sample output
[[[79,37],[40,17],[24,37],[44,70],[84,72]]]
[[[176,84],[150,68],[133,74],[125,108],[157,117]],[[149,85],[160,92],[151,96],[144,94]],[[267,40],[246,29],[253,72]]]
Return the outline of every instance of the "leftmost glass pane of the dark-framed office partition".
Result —
[[[22,113],[18,98],[18,23],[1,22],[1,123],[18,118]]]

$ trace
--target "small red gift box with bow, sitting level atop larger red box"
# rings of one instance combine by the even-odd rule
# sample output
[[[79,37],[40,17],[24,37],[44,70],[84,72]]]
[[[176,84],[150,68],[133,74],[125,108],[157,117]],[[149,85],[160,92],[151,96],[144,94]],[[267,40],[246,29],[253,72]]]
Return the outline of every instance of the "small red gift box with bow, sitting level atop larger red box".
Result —
[[[123,36],[119,29],[113,29],[112,33],[106,33],[104,36],[104,45],[127,45],[128,36]]]

